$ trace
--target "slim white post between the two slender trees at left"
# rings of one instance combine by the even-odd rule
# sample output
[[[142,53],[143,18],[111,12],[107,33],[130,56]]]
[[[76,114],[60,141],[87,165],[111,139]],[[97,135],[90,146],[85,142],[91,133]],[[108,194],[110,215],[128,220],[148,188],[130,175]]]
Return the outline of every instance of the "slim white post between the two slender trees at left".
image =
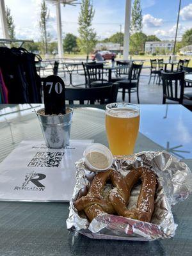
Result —
[[[56,18],[57,18],[57,30],[58,30],[58,55],[59,58],[63,58],[63,42],[62,42],[62,28],[61,28],[61,7],[60,1],[56,4]]]

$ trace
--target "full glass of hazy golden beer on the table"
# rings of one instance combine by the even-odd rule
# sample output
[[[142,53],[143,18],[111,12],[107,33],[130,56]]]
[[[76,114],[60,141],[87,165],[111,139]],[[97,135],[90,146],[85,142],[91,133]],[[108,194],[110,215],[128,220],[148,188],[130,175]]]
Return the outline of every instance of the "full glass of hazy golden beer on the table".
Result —
[[[140,126],[140,108],[129,103],[106,106],[106,132],[114,156],[133,154]]]

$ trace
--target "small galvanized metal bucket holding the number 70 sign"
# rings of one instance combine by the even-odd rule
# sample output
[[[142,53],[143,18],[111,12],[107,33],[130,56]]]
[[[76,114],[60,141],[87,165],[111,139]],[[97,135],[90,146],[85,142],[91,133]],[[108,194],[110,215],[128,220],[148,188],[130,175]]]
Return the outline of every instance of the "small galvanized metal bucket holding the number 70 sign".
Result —
[[[64,148],[69,145],[72,108],[66,108],[65,115],[42,115],[44,109],[36,112],[45,143],[49,148]]]

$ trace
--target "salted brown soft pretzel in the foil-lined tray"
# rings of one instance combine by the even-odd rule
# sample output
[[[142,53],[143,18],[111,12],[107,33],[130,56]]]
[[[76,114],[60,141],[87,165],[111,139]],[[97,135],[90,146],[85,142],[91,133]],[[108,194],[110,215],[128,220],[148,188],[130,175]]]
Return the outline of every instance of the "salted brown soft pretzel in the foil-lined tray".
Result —
[[[114,188],[104,197],[102,192],[106,180],[110,179]],[[127,204],[134,184],[141,179],[141,191],[137,207],[129,211]],[[77,211],[85,212],[90,221],[100,213],[118,214],[127,218],[141,221],[150,221],[154,211],[154,195],[156,193],[156,175],[147,168],[131,170],[125,177],[115,170],[95,175],[86,196],[74,202]],[[129,205],[128,205],[129,206]]]

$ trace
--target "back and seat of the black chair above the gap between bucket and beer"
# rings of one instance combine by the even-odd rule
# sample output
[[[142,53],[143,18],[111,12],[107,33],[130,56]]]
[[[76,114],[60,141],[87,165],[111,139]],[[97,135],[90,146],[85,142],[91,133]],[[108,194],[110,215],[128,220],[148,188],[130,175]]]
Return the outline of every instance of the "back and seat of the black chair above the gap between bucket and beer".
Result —
[[[88,75],[89,87],[100,87],[111,85],[106,79],[104,79],[103,63],[84,63],[86,67],[86,73]]]

